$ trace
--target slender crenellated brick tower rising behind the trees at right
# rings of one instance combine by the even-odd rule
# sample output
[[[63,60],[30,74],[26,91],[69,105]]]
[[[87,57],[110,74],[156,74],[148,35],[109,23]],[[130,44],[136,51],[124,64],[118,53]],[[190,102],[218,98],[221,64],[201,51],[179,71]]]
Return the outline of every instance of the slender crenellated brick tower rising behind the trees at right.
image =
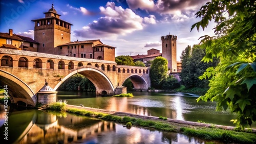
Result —
[[[162,57],[168,61],[168,70],[170,73],[177,72],[177,36],[166,35],[161,37],[162,40]]]

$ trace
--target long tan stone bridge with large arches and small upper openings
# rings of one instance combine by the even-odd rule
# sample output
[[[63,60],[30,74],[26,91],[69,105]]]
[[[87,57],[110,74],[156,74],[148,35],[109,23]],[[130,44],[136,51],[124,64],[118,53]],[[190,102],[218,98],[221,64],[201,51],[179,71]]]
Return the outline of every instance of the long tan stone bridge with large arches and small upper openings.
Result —
[[[131,79],[137,90],[145,90],[151,85],[148,67],[1,48],[0,59],[0,84],[7,86],[15,104],[23,102],[35,106],[37,93],[45,85],[45,80],[56,90],[76,73],[94,84],[96,94],[119,94],[123,92],[121,86],[127,79]]]

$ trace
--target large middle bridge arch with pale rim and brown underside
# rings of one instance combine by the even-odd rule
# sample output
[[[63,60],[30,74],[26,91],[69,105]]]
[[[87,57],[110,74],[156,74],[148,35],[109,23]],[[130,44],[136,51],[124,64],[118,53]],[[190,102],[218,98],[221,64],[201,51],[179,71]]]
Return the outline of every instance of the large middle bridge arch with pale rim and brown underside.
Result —
[[[68,78],[70,78],[76,73],[83,75],[94,84],[96,88],[96,94],[114,94],[113,92],[115,88],[110,78],[105,74],[105,72],[95,66],[88,65],[79,67],[77,68],[77,70],[72,71],[54,87],[54,90],[56,90],[64,81],[66,81]]]

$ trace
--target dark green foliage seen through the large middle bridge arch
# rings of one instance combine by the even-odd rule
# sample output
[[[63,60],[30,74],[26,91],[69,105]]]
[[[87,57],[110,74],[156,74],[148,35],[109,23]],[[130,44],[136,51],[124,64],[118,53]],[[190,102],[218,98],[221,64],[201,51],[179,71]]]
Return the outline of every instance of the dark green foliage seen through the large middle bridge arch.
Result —
[[[71,76],[68,80],[63,82],[58,90],[63,90],[63,91],[77,91],[78,86],[80,86],[81,91],[95,91],[95,86],[93,83],[88,80],[86,77],[80,75],[80,74],[75,74]]]

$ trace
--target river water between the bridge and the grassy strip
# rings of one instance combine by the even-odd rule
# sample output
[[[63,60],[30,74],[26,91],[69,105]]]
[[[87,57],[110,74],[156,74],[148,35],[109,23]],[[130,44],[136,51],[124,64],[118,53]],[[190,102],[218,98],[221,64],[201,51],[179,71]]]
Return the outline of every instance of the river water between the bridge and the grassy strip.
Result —
[[[236,115],[228,111],[217,112],[214,102],[197,103],[197,94],[147,91],[132,93],[135,95],[133,98],[114,98],[95,97],[92,92],[60,91],[57,93],[57,99],[67,100],[70,105],[82,104],[92,108],[234,126],[230,119],[236,118]],[[256,128],[256,125],[253,124],[252,128]]]

